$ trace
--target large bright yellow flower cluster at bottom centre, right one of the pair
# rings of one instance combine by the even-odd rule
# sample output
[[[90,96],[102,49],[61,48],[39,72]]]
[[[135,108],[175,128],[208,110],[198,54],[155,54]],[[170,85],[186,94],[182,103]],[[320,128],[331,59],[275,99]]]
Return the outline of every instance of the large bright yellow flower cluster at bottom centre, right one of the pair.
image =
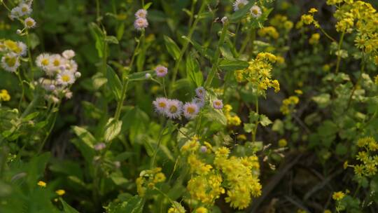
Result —
[[[257,156],[237,158],[229,157],[229,153],[228,148],[219,148],[214,165],[225,174],[225,188],[228,189],[225,201],[230,202],[231,207],[244,209],[251,202],[251,196],[261,195],[260,165]]]

